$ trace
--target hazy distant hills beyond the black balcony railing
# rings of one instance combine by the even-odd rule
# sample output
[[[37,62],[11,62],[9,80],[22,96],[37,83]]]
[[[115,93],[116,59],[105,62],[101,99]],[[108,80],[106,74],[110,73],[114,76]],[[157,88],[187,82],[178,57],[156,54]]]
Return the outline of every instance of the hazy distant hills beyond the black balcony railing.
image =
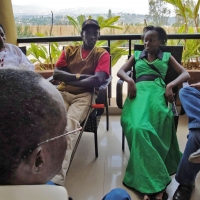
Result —
[[[55,25],[67,25],[68,21],[66,15],[77,17],[82,14],[85,16],[91,15],[93,18],[101,15],[107,17],[108,9],[104,7],[93,7],[93,8],[69,8],[63,10],[51,10],[45,7],[39,6],[19,6],[13,5],[13,12],[15,16],[15,22],[17,25],[50,25],[51,24],[51,11],[54,14],[54,24]],[[131,12],[123,11],[122,9],[113,8],[111,9],[112,15],[120,16],[119,23],[122,24],[143,24],[146,15],[134,14]],[[148,21],[148,20],[147,20]],[[168,25],[172,25],[175,21],[174,17],[169,17]]]

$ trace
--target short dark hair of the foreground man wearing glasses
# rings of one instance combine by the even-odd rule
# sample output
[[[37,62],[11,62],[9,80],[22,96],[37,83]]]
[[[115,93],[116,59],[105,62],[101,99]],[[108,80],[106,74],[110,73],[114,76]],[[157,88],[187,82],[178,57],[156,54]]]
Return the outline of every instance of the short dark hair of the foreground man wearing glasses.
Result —
[[[23,155],[56,135],[63,107],[28,70],[0,69],[0,185],[11,184]]]

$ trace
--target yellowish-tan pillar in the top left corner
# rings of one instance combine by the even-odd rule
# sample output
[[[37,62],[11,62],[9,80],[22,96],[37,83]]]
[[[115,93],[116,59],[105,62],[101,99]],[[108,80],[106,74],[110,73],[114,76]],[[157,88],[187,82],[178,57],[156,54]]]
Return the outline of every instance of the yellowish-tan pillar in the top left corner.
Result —
[[[17,31],[11,0],[0,0],[0,24],[6,32],[6,42],[17,44]]]

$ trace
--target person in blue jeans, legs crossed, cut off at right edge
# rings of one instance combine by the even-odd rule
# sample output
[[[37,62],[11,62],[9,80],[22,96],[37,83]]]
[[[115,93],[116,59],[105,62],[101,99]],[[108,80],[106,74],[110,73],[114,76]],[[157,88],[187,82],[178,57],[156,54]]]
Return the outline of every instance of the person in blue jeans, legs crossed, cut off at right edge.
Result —
[[[173,200],[190,200],[195,178],[200,170],[200,82],[181,88],[179,97],[188,116],[188,140],[180,161],[176,181],[179,183]],[[195,152],[195,153],[193,153]]]

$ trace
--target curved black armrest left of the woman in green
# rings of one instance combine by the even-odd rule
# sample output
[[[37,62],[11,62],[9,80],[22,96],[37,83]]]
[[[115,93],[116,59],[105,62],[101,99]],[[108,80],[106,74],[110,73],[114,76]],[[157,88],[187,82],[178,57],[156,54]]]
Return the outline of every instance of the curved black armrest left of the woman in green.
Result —
[[[126,73],[128,76],[131,76],[131,71],[128,71]],[[117,86],[116,86],[116,103],[118,108],[122,109],[123,108],[123,83],[124,80],[119,79],[117,81]]]

